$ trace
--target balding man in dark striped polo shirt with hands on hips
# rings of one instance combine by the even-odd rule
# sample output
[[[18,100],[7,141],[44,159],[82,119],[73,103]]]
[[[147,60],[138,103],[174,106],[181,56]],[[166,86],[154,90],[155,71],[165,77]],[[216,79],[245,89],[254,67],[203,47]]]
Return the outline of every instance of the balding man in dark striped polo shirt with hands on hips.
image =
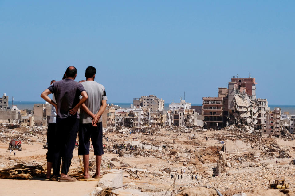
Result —
[[[41,97],[52,104],[56,108],[56,134],[54,144],[53,158],[53,177],[56,180],[60,173],[61,159],[63,160],[61,168],[61,181],[76,181],[75,178],[69,177],[68,171],[73,158],[73,150],[76,143],[79,116],[77,111],[79,107],[88,99],[88,95],[81,83],[75,80],[77,77],[77,69],[74,66],[67,68],[65,72],[66,78],[55,82],[49,86]],[[53,93],[56,103],[49,98],[49,94]],[[82,98],[79,99],[79,96]]]

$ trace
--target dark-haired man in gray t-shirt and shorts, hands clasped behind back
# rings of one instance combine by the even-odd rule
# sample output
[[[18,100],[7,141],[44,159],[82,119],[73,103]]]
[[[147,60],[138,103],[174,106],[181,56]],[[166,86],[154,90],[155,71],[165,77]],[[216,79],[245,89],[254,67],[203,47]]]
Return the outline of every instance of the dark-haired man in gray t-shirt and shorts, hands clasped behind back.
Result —
[[[88,94],[88,100],[81,105],[79,125],[78,155],[83,155],[83,179],[89,176],[89,146],[90,138],[96,156],[96,173],[93,178],[100,177],[101,155],[104,154],[102,146],[102,119],[100,118],[107,106],[107,96],[103,85],[94,81],[96,69],[92,66],[85,71],[86,81],[81,82]]]

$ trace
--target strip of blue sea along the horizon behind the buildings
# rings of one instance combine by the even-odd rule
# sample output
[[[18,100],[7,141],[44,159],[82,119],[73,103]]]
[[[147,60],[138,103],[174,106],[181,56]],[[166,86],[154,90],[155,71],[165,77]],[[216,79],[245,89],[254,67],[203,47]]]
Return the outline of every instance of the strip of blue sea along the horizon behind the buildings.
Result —
[[[9,102],[9,107],[11,107],[11,101]],[[18,106],[18,109],[24,110],[32,110],[34,107],[34,104],[45,104],[45,101],[14,101],[14,105]],[[113,103],[114,105],[118,105],[120,107],[130,107],[132,103]],[[202,105],[202,104],[191,104],[191,105]],[[290,114],[295,114],[295,105],[268,105],[271,110],[274,110],[275,107],[280,107],[281,112],[290,112]],[[168,110],[169,104],[165,104],[165,110]]]

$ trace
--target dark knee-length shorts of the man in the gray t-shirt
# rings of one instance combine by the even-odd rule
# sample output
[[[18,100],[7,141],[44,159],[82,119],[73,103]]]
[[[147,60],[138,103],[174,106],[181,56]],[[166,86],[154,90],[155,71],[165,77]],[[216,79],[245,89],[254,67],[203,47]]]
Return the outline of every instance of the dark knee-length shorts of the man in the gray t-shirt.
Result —
[[[94,155],[103,155],[104,148],[102,146],[102,122],[97,123],[96,127],[92,126],[92,123],[80,123],[78,155],[89,154],[90,138],[94,149]]]

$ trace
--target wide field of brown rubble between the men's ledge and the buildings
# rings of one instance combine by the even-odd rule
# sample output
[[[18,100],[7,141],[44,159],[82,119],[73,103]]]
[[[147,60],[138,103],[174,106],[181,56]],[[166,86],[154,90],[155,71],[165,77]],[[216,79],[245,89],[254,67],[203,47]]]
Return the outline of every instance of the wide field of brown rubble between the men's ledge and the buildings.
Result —
[[[103,140],[101,168],[104,172],[112,168],[129,169],[135,174],[124,173],[123,183],[127,185],[124,189],[153,196],[165,195],[166,192],[171,195],[173,191],[174,195],[218,195],[215,188],[224,196],[241,192],[251,195],[255,193],[252,191],[255,187],[266,189],[269,180],[279,178],[285,178],[293,190],[295,160],[290,162],[288,157],[294,157],[292,146],[295,143],[265,135],[258,137],[251,130],[251,123],[230,125],[221,130],[204,130],[198,126],[117,126],[116,132],[104,132],[103,137],[108,140]],[[39,148],[29,156],[26,156],[29,153],[26,150],[22,155],[26,158],[17,159],[12,159],[12,155],[6,151],[5,155],[0,155],[0,167],[16,163],[43,164],[46,150],[40,148],[41,142],[46,141],[46,131],[46,127],[19,127],[10,130],[0,125],[1,141],[4,139],[7,143],[9,140],[6,137],[20,138],[25,141],[25,148]],[[6,137],[1,137],[2,134]],[[38,152],[43,154],[36,155]],[[79,168],[77,149],[73,156],[71,173],[77,172],[75,169]],[[96,171],[96,160],[92,152],[89,168],[91,172]],[[135,175],[138,177],[135,178]]]

